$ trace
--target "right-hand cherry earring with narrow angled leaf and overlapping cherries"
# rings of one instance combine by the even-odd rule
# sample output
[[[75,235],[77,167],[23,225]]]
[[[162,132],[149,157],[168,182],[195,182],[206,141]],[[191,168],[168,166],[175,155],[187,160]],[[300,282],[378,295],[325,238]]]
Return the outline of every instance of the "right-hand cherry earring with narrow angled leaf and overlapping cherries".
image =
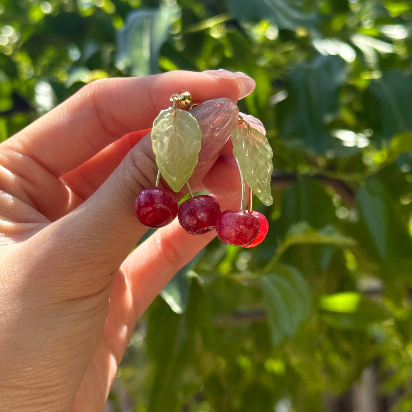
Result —
[[[238,124],[243,123],[246,127],[232,130],[233,156],[241,180],[241,205],[237,211],[220,213],[216,221],[216,232],[224,243],[252,247],[265,239],[269,229],[265,215],[252,210],[252,198],[255,192],[265,205],[273,203],[270,187],[273,152],[266,136],[251,128],[250,124],[239,116]],[[245,210],[245,180],[249,185],[248,210]]]

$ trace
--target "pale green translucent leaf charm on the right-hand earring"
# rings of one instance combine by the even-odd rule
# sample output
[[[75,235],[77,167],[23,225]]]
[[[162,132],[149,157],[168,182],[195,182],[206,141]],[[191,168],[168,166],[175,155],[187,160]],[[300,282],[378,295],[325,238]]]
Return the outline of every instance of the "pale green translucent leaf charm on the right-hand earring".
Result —
[[[270,182],[272,179],[272,147],[260,131],[247,127],[232,130],[234,152],[248,185],[266,205],[273,203]]]

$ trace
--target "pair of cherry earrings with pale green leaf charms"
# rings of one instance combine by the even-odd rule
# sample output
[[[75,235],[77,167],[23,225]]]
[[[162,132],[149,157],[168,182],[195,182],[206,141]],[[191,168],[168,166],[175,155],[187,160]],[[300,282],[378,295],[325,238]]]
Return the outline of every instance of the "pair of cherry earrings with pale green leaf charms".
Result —
[[[180,225],[190,234],[203,234],[216,229],[222,242],[252,247],[265,239],[269,225],[265,215],[252,210],[253,192],[266,205],[273,202],[270,180],[272,176],[272,148],[266,136],[250,127],[241,116],[239,126],[232,130],[233,156],[239,169],[242,193],[237,211],[220,212],[218,202],[209,195],[194,196],[188,183],[197,165],[201,148],[201,131],[197,120],[189,111],[193,100],[189,92],[173,94],[171,108],[162,110],[153,122],[152,148],[159,168],[155,187],[143,190],[135,203],[138,220],[148,227],[162,227],[171,223],[176,215]],[[163,176],[174,192],[184,185],[191,198],[178,208],[174,195],[159,187]],[[243,177],[244,176],[244,177]],[[245,180],[249,185],[249,206],[245,209]]]

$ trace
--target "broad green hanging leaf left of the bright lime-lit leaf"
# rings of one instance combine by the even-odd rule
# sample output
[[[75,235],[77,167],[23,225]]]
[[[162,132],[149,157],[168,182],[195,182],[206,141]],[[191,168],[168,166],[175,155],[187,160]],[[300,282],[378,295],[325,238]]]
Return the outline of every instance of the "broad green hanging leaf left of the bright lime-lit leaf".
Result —
[[[310,292],[297,269],[283,265],[267,274],[262,286],[272,342],[277,346],[285,336],[293,337],[300,323],[309,316]]]

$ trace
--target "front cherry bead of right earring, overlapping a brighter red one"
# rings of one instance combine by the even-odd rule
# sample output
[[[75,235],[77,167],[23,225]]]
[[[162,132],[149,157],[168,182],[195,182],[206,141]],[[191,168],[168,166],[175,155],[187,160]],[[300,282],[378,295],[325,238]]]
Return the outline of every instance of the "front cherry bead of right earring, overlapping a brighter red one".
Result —
[[[229,245],[248,246],[259,233],[259,222],[245,210],[226,210],[216,220],[218,238]]]

